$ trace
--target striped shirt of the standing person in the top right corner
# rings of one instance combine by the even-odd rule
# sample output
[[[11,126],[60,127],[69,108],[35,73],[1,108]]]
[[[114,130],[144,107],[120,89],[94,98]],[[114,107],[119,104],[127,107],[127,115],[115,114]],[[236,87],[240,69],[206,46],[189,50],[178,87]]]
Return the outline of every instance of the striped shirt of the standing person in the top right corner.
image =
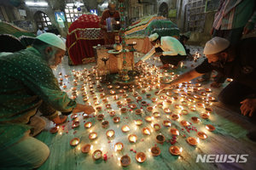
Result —
[[[255,0],[222,0],[212,26],[216,30],[231,30],[245,26],[248,21],[255,24],[255,4]]]

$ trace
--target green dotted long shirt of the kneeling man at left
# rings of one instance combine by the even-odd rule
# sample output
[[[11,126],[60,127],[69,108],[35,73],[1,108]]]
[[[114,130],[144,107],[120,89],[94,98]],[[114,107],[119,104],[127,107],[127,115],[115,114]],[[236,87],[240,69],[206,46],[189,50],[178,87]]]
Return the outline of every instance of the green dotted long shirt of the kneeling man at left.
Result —
[[[43,100],[56,111],[73,111],[76,106],[76,102],[61,91],[44,56],[35,48],[1,53],[0,65],[1,146],[20,139],[30,128],[26,123]]]

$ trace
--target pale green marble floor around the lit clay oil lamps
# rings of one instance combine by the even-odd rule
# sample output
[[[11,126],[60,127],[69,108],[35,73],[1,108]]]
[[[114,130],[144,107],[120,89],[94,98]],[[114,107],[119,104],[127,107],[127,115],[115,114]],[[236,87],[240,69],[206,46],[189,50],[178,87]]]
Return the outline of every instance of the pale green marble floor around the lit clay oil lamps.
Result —
[[[193,51],[201,50],[201,48],[190,47]],[[137,60],[137,59],[136,59]],[[149,60],[149,63],[152,63],[153,60]],[[157,65],[160,65],[159,61]],[[176,72],[181,73],[183,71],[189,70],[191,66],[198,65],[200,61],[194,63],[191,61],[184,62],[186,68],[179,69]],[[72,70],[82,71],[84,68],[90,69],[90,65],[78,65],[78,66],[69,66],[67,65],[67,59],[64,59],[62,64],[55,71],[56,77],[59,76],[59,72],[64,75],[70,75],[68,79],[64,79],[64,83],[67,85],[67,94],[71,95],[70,88],[73,85],[73,76]],[[225,84],[228,82],[225,82]],[[83,84],[83,82],[79,81],[79,88]],[[202,89],[208,88],[209,83],[202,85]],[[78,88],[78,89],[79,89]],[[88,87],[87,87],[88,88]],[[95,88],[96,89],[96,88]],[[105,89],[107,90],[107,88]],[[149,105],[154,106],[150,99],[146,98],[146,94],[152,94],[151,98],[159,96],[154,96],[154,92],[157,89],[152,91],[147,91],[146,94],[141,93],[142,89],[136,89],[140,96],[143,97],[144,101],[147,101]],[[221,89],[213,89],[210,95],[217,96],[218,92]],[[79,91],[79,90],[78,90]],[[116,90],[118,91],[118,90]],[[87,89],[88,94],[89,88]],[[80,92],[79,92],[80,93]],[[201,92],[200,92],[201,93]],[[100,93],[96,92],[96,95]],[[100,105],[102,105],[102,111],[96,112],[96,114],[104,114],[104,120],[109,122],[108,128],[103,128],[102,123],[96,120],[96,116],[91,116],[89,119],[83,119],[83,116],[79,114],[79,122],[80,126],[76,128],[72,128],[72,119],[68,117],[67,123],[63,124],[60,127],[59,133],[49,133],[49,129],[54,127],[51,122],[47,122],[47,127],[45,131],[40,133],[37,139],[40,139],[45,144],[49,146],[50,156],[49,159],[44,163],[42,167],[39,167],[40,170],[81,170],[81,169],[253,169],[253,166],[256,162],[256,144],[251,142],[246,138],[246,133],[249,129],[253,128],[253,124],[247,122],[244,117],[239,115],[236,112],[230,111],[224,105],[219,104],[218,102],[212,103],[211,106],[213,109],[212,114],[208,120],[201,119],[200,123],[192,123],[190,127],[195,128],[197,131],[202,131],[207,133],[207,139],[200,139],[200,143],[196,146],[191,146],[187,143],[186,139],[191,136],[195,137],[195,130],[190,130],[189,132],[185,127],[182,127],[180,124],[181,120],[186,120],[191,122],[190,117],[198,116],[204,109],[196,107],[197,111],[189,111],[188,115],[182,115],[179,120],[172,121],[170,116],[168,116],[162,109],[156,108],[154,111],[160,112],[160,118],[154,118],[154,123],[159,123],[161,126],[160,131],[154,132],[154,128],[151,123],[148,123],[144,120],[145,116],[151,116],[152,113],[147,111],[146,106],[142,106],[141,102],[137,102],[137,99],[131,95],[131,92],[127,91],[129,94],[128,98],[132,99],[132,104],[136,104],[137,108],[143,109],[142,116],[137,116],[135,111],[129,111],[127,113],[120,113],[119,107],[116,105],[116,100],[113,100],[112,97],[108,98],[108,103],[111,104],[112,110],[116,111],[116,116],[120,117],[119,123],[113,123],[113,117],[109,116],[108,112],[112,110],[108,110],[105,108],[105,104],[102,103],[102,99],[100,100]],[[176,94],[173,94],[176,95]],[[180,94],[177,94],[180,99]],[[93,104],[92,97],[89,95],[90,104]],[[120,99],[124,101],[125,99],[121,97]],[[81,93],[77,99],[80,103],[83,103],[83,98]],[[160,101],[160,99],[159,99]],[[166,105],[169,107],[173,113],[177,113],[179,110],[174,108],[175,104],[181,104],[181,101],[177,100],[172,103],[172,105]],[[199,101],[198,101],[199,102]],[[194,104],[193,104],[194,105]],[[128,105],[124,105],[123,107],[128,108]],[[188,109],[189,106],[183,106],[183,109]],[[143,125],[138,127],[135,125],[134,120],[142,119]],[[183,148],[181,156],[172,156],[169,152],[169,147],[172,145],[169,140],[172,139],[172,135],[169,132],[171,127],[163,127],[162,122],[164,120],[170,120],[172,122],[172,127],[177,128],[179,130],[180,135],[177,136],[177,143],[173,145],[177,145]],[[85,122],[92,122],[93,126],[89,129],[84,128]],[[208,132],[206,129],[207,124],[212,124],[216,127],[214,132]],[[123,133],[121,131],[121,127],[124,125],[128,125],[130,127],[130,132]],[[149,127],[152,131],[150,135],[143,135],[142,128]],[[109,129],[113,129],[115,131],[114,139],[108,140],[106,137],[106,132]],[[98,134],[97,139],[90,140],[88,135],[90,132],[96,132]],[[166,141],[164,144],[157,144],[155,141],[155,137],[157,134],[163,134],[166,137]],[[129,134],[137,135],[137,143],[131,144],[128,141]],[[71,146],[69,141],[77,137],[80,139],[80,143],[77,146]],[[114,144],[117,142],[122,142],[124,144],[124,149],[120,152],[114,151]],[[81,152],[81,147],[84,144],[92,144],[93,148],[88,154],[84,154]],[[154,145],[160,147],[161,153],[160,156],[152,156],[150,153],[150,148]],[[108,160],[104,161],[103,159],[94,161],[92,159],[92,152],[94,150],[102,150],[103,154],[108,156]],[[147,156],[147,160],[143,163],[138,163],[136,161],[136,153],[135,152],[144,152]],[[233,155],[242,155],[247,154],[247,162],[246,163],[196,163],[197,155],[205,155],[205,154],[233,154]],[[121,167],[120,165],[120,157],[128,155],[131,157],[131,164],[128,167]]]

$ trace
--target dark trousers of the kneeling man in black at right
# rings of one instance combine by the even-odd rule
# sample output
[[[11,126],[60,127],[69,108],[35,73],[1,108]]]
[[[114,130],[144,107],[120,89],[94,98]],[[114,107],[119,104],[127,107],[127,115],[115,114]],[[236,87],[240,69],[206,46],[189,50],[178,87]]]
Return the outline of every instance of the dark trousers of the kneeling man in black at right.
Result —
[[[253,98],[253,94],[256,94],[256,89],[233,81],[218,94],[218,100],[225,105],[236,105],[240,107],[240,102],[244,99]],[[256,111],[253,112],[253,120],[255,119]]]

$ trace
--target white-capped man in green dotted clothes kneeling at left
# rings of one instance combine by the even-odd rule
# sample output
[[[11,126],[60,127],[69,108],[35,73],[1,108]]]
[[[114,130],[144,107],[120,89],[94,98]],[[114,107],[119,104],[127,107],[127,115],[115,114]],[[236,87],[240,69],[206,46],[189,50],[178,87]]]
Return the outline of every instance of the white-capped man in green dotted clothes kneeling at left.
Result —
[[[39,110],[53,122],[64,119],[58,111],[94,112],[61,91],[50,67],[61,63],[66,45],[60,37],[44,33],[26,48],[0,54],[0,164],[5,169],[33,169],[49,156],[49,148],[31,137],[30,121]]]

